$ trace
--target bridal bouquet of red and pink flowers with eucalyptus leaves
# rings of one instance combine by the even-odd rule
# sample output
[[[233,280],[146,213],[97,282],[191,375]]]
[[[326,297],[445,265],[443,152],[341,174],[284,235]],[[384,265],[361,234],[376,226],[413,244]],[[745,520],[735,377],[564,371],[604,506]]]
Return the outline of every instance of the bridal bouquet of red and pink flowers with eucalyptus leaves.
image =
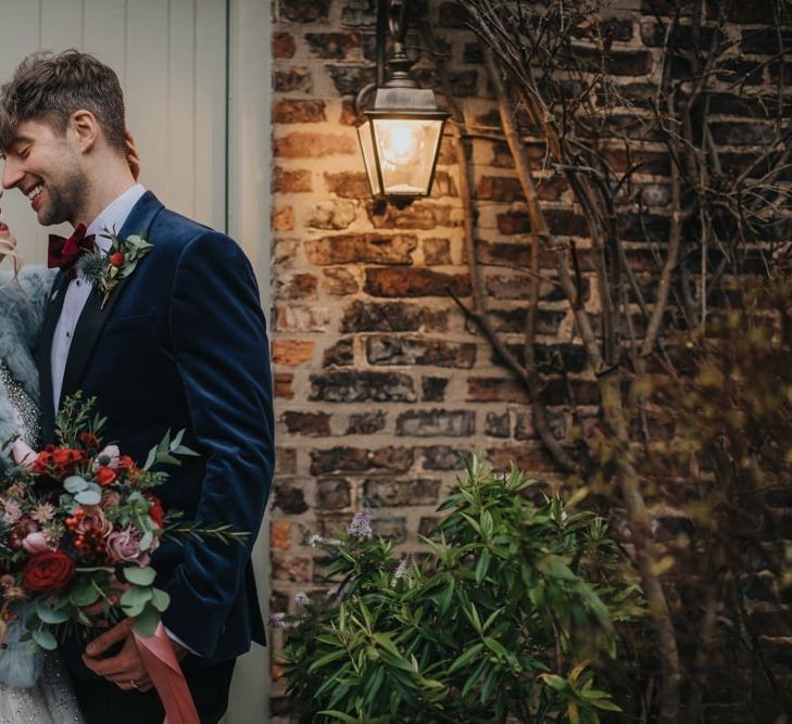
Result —
[[[123,617],[150,636],[167,608],[168,595],[154,586],[151,554],[167,536],[244,535],[227,525],[200,528],[163,511],[154,490],[167,473],[196,455],[169,431],[142,467],[116,445],[104,445],[104,419],[95,401],[79,394],[61,407],[58,445],[20,452],[0,484],[0,640],[10,621],[23,638],[54,649],[70,627],[106,626]]]

